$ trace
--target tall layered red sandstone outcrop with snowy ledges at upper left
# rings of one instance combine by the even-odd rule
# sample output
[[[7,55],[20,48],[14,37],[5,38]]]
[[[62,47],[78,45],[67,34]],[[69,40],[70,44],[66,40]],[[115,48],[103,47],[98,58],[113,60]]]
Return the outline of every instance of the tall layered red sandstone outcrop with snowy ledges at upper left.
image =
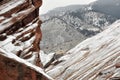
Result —
[[[23,59],[38,57],[41,4],[41,0],[10,0],[0,6],[0,48]]]

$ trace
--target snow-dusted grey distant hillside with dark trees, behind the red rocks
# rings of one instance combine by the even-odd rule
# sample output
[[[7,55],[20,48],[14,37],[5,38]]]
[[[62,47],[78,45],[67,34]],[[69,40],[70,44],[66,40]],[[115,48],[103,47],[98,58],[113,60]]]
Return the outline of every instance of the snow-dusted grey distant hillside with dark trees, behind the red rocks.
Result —
[[[56,8],[41,16],[41,49],[64,53],[117,20],[117,17],[93,9],[93,5]]]

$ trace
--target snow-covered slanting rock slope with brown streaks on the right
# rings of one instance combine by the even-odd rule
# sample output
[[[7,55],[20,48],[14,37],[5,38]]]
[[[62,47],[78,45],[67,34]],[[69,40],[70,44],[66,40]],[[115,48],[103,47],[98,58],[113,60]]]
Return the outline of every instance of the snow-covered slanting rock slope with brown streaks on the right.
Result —
[[[55,80],[120,80],[120,21],[66,55],[65,61],[47,71]]]

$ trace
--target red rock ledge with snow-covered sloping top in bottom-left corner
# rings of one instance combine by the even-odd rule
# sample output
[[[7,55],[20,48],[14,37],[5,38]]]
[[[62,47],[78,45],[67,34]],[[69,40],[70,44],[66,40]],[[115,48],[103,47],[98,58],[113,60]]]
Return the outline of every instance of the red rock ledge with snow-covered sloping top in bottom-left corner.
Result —
[[[0,77],[0,80],[37,80],[37,77],[33,77],[35,73],[37,73],[38,75],[42,74],[49,80],[54,80],[49,77],[42,68],[33,65],[22,58],[17,57],[13,53],[8,53],[1,48],[0,60],[2,60],[0,62],[0,70],[3,71],[3,73],[1,73],[1,76],[5,76]],[[26,77],[27,75],[31,77]]]

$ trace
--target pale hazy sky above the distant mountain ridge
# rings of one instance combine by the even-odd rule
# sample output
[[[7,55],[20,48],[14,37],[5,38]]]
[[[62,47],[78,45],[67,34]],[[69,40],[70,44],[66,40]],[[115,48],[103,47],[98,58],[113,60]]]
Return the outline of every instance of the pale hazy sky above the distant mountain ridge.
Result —
[[[43,5],[40,8],[40,14],[46,13],[56,7],[63,7],[72,4],[89,4],[96,0],[43,0]]]

